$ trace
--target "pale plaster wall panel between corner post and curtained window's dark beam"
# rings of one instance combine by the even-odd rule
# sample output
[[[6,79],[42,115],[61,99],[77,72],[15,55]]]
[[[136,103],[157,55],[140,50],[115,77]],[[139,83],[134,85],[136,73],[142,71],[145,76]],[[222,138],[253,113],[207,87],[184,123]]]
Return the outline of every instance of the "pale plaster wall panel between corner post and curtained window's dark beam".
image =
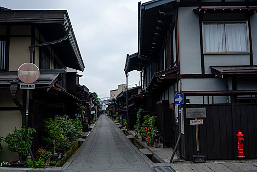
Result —
[[[193,13],[196,8],[179,7],[181,74],[202,73],[199,16]]]

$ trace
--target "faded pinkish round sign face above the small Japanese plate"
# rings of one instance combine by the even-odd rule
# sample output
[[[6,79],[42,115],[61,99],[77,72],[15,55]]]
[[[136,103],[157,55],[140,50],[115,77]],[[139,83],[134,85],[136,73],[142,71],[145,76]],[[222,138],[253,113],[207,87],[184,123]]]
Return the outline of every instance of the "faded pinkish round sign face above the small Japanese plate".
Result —
[[[34,83],[39,77],[39,69],[33,63],[24,63],[18,69],[18,76],[24,83]]]

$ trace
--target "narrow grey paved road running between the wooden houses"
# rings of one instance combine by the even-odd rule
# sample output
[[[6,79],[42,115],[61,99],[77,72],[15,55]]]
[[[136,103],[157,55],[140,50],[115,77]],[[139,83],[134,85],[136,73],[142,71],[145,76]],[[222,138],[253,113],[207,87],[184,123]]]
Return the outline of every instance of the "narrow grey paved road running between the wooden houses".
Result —
[[[65,172],[152,172],[128,142],[115,123],[101,115],[86,143],[67,162]]]

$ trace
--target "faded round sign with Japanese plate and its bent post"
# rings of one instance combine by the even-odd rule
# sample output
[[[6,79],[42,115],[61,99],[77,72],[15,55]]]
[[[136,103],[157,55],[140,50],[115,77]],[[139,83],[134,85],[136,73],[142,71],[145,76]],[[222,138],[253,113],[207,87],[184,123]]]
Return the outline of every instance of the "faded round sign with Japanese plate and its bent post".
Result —
[[[30,153],[31,159],[33,161],[34,167],[37,168],[35,159],[33,157],[33,153],[31,151],[31,148],[30,148],[29,143],[27,141],[27,128],[28,128],[29,89],[35,89],[35,85],[31,84],[31,83],[34,83],[35,81],[37,81],[37,79],[39,77],[39,69],[33,63],[24,63],[18,69],[18,76],[19,76],[19,79],[22,82],[26,83],[26,84],[21,84],[20,85],[21,89],[26,89],[27,90],[27,95],[26,95],[25,140],[26,140],[27,148],[28,148],[28,151]]]

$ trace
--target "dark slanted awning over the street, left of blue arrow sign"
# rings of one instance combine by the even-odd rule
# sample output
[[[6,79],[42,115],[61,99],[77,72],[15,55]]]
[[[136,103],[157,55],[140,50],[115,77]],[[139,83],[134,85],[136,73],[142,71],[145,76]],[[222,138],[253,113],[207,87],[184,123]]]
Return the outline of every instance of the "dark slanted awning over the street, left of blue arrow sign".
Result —
[[[150,92],[156,92],[167,89],[177,82],[178,74],[179,66],[154,73],[147,90]]]

